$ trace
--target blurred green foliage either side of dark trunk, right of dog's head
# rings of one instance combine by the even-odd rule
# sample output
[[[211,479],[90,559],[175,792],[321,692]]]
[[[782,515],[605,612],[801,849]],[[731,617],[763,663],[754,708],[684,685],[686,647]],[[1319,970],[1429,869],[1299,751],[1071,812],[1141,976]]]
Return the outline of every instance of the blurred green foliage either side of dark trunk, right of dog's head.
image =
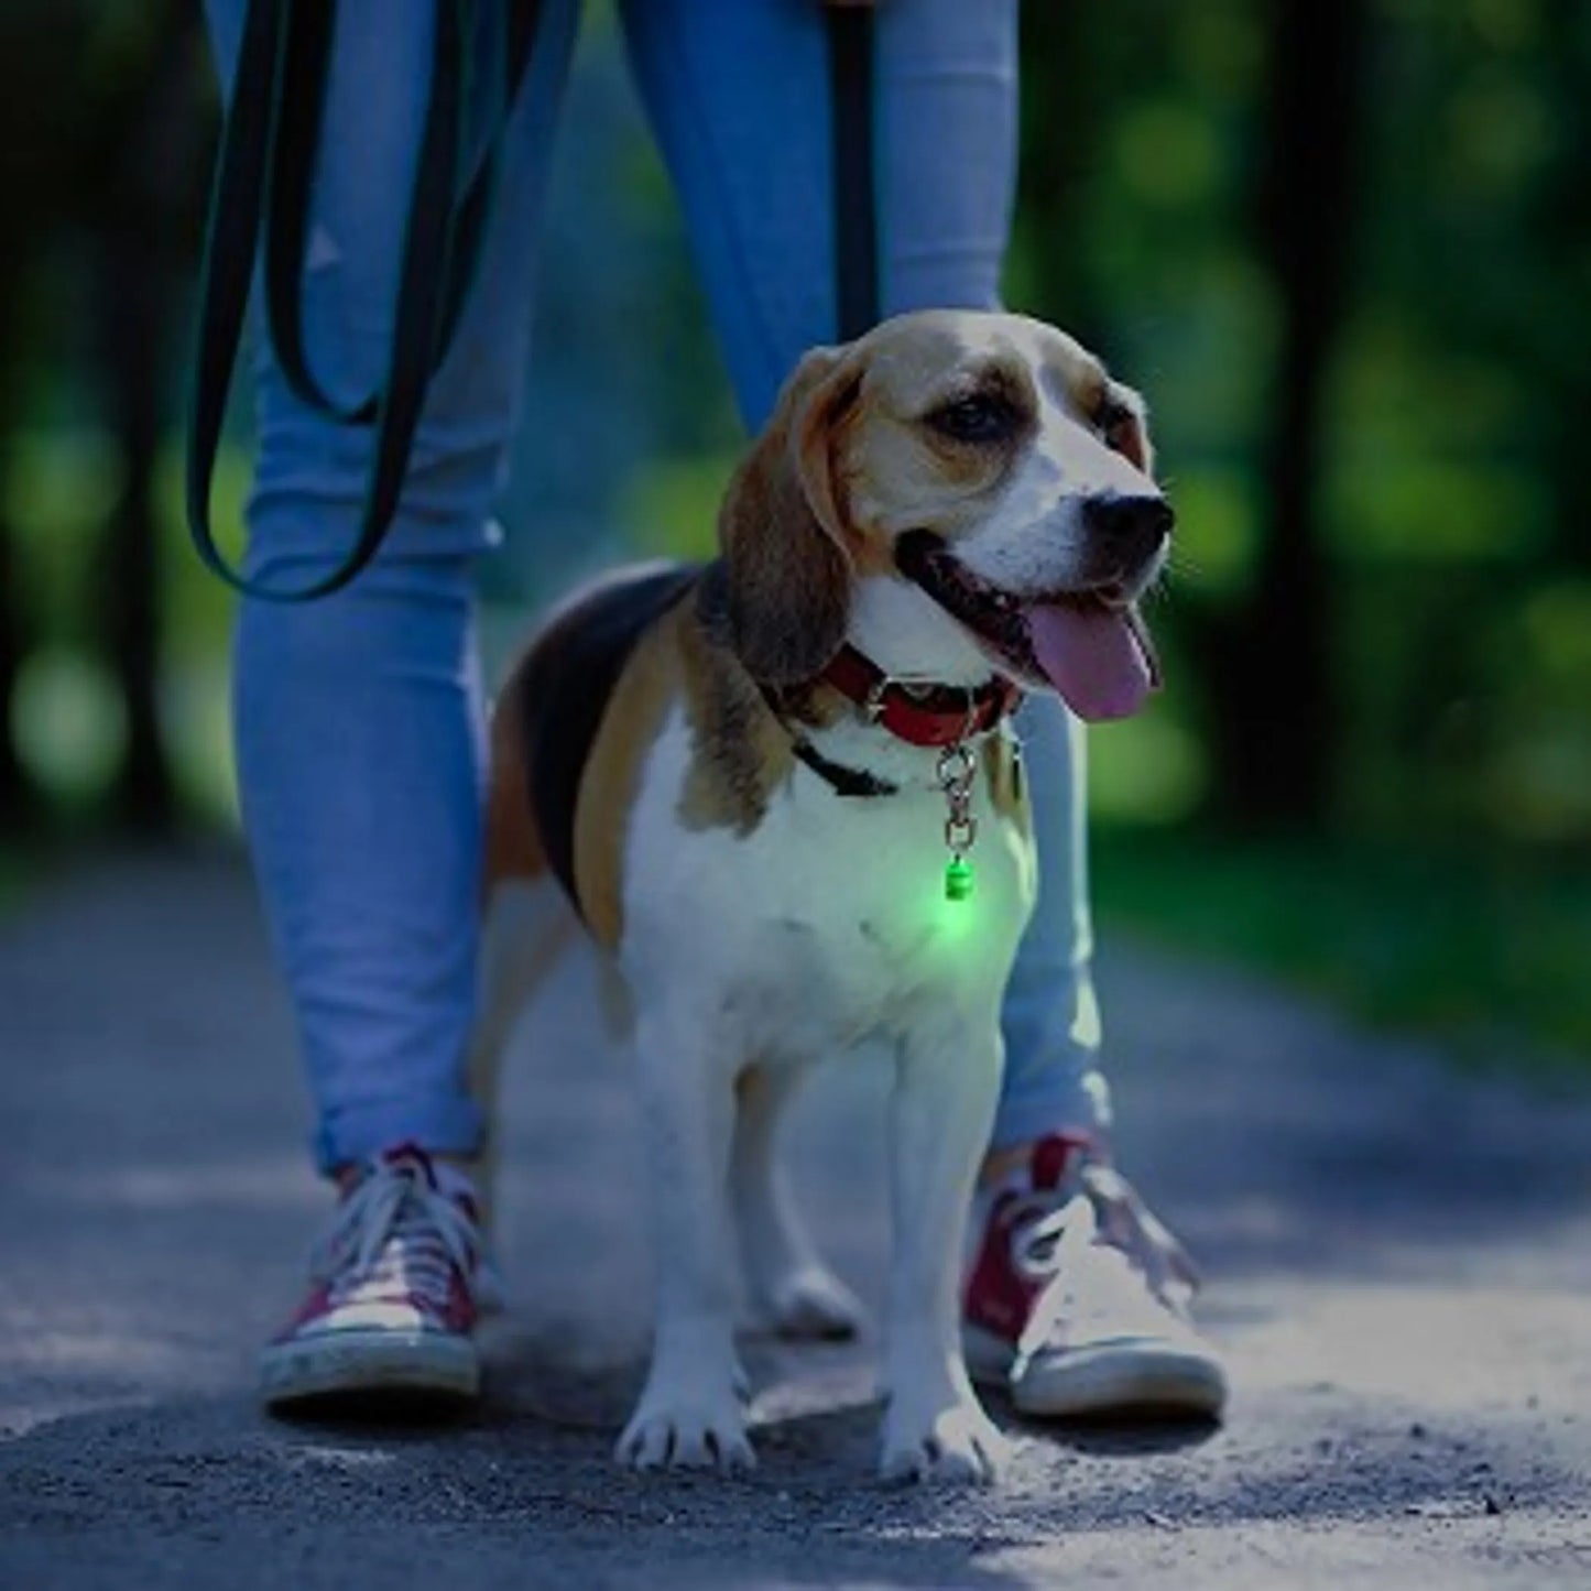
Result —
[[[1254,579],[1278,282],[1252,196],[1278,8],[1061,11],[1025,154],[1063,220],[1025,205],[1015,296],[1082,317],[1155,406],[1182,531],[1163,625],[1209,745],[1225,703],[1198,620],[1270,598]],[[1354,834],[1583,859],[1591,10],[1379,0],[1367,24],[1362,103],[1317,129],[1354,143],[1357,212],[1330,218],[1352,251],[1314,484],[1341,710],[1325,811]],[[1034,173],[1041,140],[1053,169]],[[1219,780],[1188,794],[1219,816]]]

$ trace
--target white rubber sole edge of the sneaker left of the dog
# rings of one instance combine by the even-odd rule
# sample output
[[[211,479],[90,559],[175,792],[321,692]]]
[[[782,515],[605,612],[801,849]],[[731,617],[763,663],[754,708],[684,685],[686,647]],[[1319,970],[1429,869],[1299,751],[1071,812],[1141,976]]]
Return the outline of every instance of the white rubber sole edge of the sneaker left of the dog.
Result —
[[[442,1332],[348,1330],[272,1343],[259,1356],[266,1405],[345,1394],[480,1395],[480,1354]]]

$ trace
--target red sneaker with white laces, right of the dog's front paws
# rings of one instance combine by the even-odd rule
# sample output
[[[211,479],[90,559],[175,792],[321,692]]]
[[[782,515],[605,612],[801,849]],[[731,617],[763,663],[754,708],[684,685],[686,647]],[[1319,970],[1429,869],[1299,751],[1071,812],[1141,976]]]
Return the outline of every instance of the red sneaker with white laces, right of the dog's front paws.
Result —
[[[994,1192],[967,1279],[977,1381],[1025,1414],[1216,1418],[1227,1373],[1188,1317],[1182,1244],[1085,1139],[1041,1139]]]

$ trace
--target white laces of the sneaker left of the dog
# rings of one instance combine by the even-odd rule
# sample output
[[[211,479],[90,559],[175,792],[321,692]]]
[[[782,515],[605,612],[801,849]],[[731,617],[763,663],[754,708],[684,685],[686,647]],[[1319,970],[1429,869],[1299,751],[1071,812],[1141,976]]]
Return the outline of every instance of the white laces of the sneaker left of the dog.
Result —
[[[333,1303],[390,1289],[447,1303],[455,1276],[471,1286],[480,1238],[457,1200],[417,1166],[380,1165],[344,1198],[310,1254],[310,1274]]]

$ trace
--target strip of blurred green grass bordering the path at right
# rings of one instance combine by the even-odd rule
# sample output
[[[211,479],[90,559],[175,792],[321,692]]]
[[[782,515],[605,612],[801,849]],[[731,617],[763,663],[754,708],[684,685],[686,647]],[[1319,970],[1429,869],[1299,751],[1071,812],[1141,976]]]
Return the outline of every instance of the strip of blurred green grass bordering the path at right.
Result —
[[[1257,967],[1475,1064],[1591,1055],[1591,889],[1532,853],[1107,826],[1093,881],[1107,936]]]

